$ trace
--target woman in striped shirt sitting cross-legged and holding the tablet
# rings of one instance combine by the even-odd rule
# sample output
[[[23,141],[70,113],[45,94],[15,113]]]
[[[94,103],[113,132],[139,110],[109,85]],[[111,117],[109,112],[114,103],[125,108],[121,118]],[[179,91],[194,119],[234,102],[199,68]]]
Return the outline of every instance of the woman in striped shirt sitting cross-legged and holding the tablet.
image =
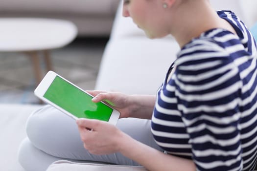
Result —
[[[215,12],[208,0],[124,0],[123,16],[131,17],[150,39],[171,34],[181,51],[157,97],[89,91],[94,102],[112,102],[126,119],[117,127],[78,119],[86,150],[70,151],[83,153],[82,160],[140,164],[149,171],[254,170],[257,55],[243,22],[231,11]],[[53,111],[48,107],[30,117],[28,137],[39,149],[64,156],[57,145],[46,145],[31,131],[47,110]],[[151,119],[151,128],[131,118]]]

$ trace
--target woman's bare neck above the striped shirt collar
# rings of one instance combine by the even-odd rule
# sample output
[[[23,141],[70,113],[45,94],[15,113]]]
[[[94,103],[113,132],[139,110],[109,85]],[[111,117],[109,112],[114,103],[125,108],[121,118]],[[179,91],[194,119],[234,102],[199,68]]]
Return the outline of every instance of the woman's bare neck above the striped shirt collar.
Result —
[[[208,0],[178,0],[172,12],[171,34],[180,47],[213,28],[224,28],[235,33],[234,28],[221,19]]]

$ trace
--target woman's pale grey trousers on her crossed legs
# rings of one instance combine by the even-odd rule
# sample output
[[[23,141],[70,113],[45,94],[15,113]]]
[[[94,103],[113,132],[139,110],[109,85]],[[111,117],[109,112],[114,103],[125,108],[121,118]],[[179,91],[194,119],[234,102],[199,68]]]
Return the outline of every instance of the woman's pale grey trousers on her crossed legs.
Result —
[[[117,128],[134,139],[161,150],[155,143],[150,120],[123,118]],[[120,153],[93,155],[83,147],[75,120],[51,106],[31,114],[26,125],[27,138],[19,150],[19,162],[26,171],[46,171],[54,161],[67,159],[79,162],[104,162],[138,166]]]

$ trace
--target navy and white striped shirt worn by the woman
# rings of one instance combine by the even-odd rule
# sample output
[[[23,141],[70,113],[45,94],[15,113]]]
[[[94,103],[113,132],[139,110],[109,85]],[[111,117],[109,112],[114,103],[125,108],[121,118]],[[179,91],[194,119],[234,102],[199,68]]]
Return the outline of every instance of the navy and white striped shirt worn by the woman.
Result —
[[[233,12],[217,14],[237,35],[215,28],[181,49],[157,92],[152,133],[168,154],[192,159],[198,171],[251,171],[257,161],[256,43]]]

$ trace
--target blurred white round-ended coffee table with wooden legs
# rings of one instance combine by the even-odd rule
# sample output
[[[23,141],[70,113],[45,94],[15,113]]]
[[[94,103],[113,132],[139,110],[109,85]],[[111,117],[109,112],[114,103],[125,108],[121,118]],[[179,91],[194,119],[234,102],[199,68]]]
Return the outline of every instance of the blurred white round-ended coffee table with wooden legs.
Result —
[[[42,79],[39,53],[47,70],[52,70],[49,50],[63,47],[77,36],[76,26],[65,20],[41,18],[0,18],[0,51],[23,52],[33,64],[37,84]]]

